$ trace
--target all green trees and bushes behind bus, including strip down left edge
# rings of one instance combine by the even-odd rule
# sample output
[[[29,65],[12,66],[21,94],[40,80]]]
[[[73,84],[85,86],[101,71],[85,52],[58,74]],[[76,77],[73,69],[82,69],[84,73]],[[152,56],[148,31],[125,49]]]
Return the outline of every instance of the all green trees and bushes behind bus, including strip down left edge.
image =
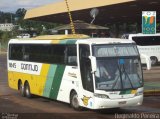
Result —
[[[2,43],[5,50],[8,41],[11,38],[16,38],[16,36],[21,33],[32,34],[34,32],[37,35],[45,35],[49,34],[49,29],[53,29],[59,25],[56,23],[24,20],[25,13],[26,10],[24,8],[17,9],[15,13],[0,11],[0,23],[13,23],[16,26],[12,31],[0,31],[0,43]],[[21,30],[19,28],[21,28]]]

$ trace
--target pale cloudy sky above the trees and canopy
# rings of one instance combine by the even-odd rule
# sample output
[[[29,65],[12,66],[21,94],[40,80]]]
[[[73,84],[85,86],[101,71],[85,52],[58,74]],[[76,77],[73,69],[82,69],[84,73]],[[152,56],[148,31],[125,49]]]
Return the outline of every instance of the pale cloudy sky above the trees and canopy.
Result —
[[[31,9],[62,0],[0,0],[0,11],[14,13],[18,8]]]

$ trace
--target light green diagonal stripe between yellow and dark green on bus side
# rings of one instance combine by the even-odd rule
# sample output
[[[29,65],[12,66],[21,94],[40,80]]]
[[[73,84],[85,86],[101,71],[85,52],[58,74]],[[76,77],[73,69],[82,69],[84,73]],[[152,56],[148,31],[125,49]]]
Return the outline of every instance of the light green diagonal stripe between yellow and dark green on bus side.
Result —
[[[53,78],[56,72],[57,65],[50,65],[48,75],[47,75],[47,80],[45,84],[45,88],[43,91],[43,96],[49,97],[50,95],[50,90],[52,90],[52,82]]]

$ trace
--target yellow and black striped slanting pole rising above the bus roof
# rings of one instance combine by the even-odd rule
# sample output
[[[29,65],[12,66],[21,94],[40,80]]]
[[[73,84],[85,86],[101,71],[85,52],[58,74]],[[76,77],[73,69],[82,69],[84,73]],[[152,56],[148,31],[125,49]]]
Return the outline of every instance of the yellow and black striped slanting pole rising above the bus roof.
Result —
[[[73,24],[72,14],[71,14],[71,12],[69,10],[69,4],[68,4],[67,0],[65,0],[65,2],[66,2],[66,6],[67,6],[67,10],[68,10],[68,15],[69,15],[69,19],[70,19],[70,25],[71,25],[72,34],[75,35],[76,32],[75,32],[75,27],[74,27],[74,24]]]

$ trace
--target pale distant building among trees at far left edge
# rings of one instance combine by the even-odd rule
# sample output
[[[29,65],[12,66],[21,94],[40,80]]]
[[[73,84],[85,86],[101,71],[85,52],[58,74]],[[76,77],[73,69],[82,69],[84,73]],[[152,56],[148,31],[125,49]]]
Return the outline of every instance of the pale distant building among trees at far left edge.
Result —
[[[12,23],[0,24],[0,31],[12,31],[14,25]]]

